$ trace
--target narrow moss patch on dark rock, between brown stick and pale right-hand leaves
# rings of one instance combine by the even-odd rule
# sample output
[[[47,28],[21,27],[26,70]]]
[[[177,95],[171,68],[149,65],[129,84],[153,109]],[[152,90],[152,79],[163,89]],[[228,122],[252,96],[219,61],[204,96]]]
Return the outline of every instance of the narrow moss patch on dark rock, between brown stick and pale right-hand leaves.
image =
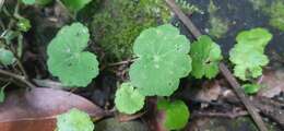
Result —
[[[210,14],[209,16],[209,34],[211,36],[214,36],[216,38],[221,38],[224,34],[228,31],[228,22],[221,16],[217,15],[218,8],[213,3],[213,1],[210,1],[208,12]]]

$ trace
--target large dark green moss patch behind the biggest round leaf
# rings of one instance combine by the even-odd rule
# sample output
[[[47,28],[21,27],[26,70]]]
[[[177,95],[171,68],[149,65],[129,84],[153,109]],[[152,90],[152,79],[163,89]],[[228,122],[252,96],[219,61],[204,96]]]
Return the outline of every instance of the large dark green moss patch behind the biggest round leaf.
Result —
[[[92,31],[107,61],[130,58],[140,32],[170,19],[162,0],[106,0],[100,8],[94,15]]]

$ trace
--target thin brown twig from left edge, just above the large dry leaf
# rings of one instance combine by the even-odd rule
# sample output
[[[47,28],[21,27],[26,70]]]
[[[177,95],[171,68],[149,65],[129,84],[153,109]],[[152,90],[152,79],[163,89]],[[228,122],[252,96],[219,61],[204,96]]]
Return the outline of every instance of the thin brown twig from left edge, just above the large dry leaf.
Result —
[[[8,72],[5,70],[0,69],[0,74],[15,79],[24,84],[26,84],[28,87],[35,88],[36,86],[34,84],[32,84],[31,82],[28,82],[24,76],[22,75],[17,75],[11,72]]]

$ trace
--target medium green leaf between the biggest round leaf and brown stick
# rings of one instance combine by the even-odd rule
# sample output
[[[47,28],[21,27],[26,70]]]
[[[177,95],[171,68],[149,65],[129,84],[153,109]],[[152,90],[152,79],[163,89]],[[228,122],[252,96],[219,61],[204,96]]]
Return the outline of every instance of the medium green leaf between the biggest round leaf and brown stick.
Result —
[[[218,63],[222,60],[220,46],[209,36],[200,36],[191,46],[190,56],[192,57],[191,74],[201,79],[206,76],[212,79],[218,73]]]

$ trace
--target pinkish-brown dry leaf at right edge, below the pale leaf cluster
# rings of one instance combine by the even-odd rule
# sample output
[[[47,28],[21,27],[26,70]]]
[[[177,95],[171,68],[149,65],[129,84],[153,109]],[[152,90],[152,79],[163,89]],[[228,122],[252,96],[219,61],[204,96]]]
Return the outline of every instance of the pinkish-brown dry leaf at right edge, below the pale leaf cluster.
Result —
[[[258,96],[272,98],[284,92],[284,70],[265,71],[261,78],[263,87]]]

